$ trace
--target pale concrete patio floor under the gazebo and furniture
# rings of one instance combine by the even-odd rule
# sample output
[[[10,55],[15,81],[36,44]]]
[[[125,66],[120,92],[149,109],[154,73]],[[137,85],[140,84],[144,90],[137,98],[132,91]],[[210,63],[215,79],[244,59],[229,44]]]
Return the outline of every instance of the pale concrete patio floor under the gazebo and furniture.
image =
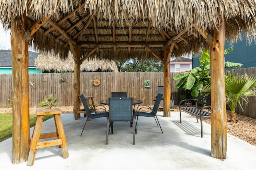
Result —
[[[152,117],[139,117],[136,145],[132,145],[130,123],[114,123],[114,134],[106,141],[106,118],[73,119],[62,114],[69,157],[64,159],[58,146],[38,149],[33,166],[27,162],[12,164],[12,138],[0,143],[0,169],[9,170],[254,170],[256,147],[228,134],[228,158],[211,157],[211,127],[204,122],[203,138],[196,118],[171,112],[171,117],[158,119],[163,130]],[[52,130],[49,130],[52,129]],[[54,119],[43,123],[42,133],[55,130]],[[30,135],[33,128],[30,129]]]

